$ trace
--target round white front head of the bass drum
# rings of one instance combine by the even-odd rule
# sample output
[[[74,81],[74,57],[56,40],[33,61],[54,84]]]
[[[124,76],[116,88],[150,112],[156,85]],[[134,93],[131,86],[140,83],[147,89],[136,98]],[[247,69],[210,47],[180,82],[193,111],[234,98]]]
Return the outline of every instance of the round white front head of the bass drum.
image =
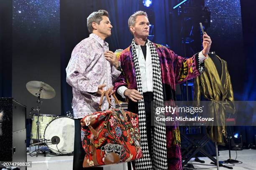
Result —
[[[46,126],[44,138],[47,147],[57,155],[74,152],[74,119],[61,116]]]

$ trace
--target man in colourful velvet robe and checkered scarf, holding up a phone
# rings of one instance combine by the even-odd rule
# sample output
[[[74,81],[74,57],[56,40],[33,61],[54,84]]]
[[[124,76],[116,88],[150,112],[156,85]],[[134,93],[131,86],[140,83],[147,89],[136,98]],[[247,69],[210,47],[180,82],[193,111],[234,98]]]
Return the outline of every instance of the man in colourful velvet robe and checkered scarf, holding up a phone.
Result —
[[[183,58],[172,50],[147,39],[147,14],[137,11],[128,20],[134,36],[132,44],[120,54],[123,70],[114,90],[128,99],[128,110],[138,113],[143,158],[133,163],[136,170],[182,170],[180,135],[174,126],[152,127],[151,101],[174,101],[175,85],[202,74],[210,50],[210,37],[203,35],[203,50]],[[153,115],[154,116],[154,115]],[[156,121],[155,121],[156,122]],[[164,127],[164,128],[163,128]]]

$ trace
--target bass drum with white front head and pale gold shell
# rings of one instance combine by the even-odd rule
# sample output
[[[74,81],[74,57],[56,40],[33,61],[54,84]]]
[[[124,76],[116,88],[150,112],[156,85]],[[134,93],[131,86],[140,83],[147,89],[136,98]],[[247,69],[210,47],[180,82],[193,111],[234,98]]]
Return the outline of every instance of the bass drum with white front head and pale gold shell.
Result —
[[[36,120],[37,116],[37,114],[34,114],[32,118]],[[41,117],[44,117],[43,122],[41,122]],[[67,116],[41,114],[39,116],[39,124],[41,139],[35,141],[36,139],[33,138],[35,138],[35,134],[37,133],[37,125],[36,121],[32,122],[31,138],[33,142],[36,142],[33,145],[46,146],[51,153],[56,155],[72,155],[74,150],[74,119]],[[56,127],[58,127],[58,130],[56,130]],[[41,152],[43,151],[41,150]]]

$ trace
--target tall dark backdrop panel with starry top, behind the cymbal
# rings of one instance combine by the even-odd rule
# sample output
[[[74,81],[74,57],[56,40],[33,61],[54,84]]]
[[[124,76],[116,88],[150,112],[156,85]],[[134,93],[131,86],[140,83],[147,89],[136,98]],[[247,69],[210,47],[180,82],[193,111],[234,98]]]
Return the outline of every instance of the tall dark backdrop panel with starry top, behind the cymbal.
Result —
[[[36,107],[26,90],[32,80],[46,82],[56,91],[42,99],[41,114],[61,114],[59,0],[13,0],[13,97]]]

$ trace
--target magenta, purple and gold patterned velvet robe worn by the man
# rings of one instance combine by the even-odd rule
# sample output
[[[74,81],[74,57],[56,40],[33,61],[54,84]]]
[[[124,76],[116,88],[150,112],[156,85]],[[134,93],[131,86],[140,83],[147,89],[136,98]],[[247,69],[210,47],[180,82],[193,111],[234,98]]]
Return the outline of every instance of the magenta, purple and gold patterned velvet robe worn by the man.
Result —
[[[154,46],[159,55],[164,101],[176,100],[176,84],[200,75],[198,70],[198,53],[187,59],[174,54],[172,50],[164,46],[158,44],[154,44]],[[123,71],[115,82],[114,90],[117,91],[120,86],[137,90],[136,73],[132,58],[131,46],[121,52],[119,61]],[[201,65],[204,65],[204,62],[202,62]],[[134,112],[136,108],[129,108],[128,104],[128,110]],[[182,170],[178,125],[166,127],[166,143],[168,170]]]

